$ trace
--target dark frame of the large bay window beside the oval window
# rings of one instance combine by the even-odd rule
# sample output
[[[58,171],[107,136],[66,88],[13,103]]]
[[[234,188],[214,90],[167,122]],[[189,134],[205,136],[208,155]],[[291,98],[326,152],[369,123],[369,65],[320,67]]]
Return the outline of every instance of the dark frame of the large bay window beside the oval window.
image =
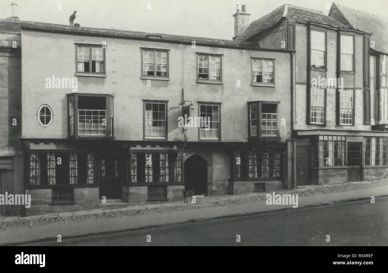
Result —
[[[76,138],[76,137],[89,137],[89,138],[114,138],[114,96],[110,94],[90,94],[90,93],[71,93],[66,94],[67,96],[67,105],[68,105],[68,137],[69,138]],[[73,135],[71,134],[71,116],[70,116],[70,109],[69,109],[69,100],[70,98],[73,98]],[[106,106],[105,106],[105,121],[106,121],[106,131],[105,135],[86,135],[86,134],[79,134],[78,132],[78,97],[105,97],[106,98]],[[111,113],[111,107],[110,103],[112,100],[112,110],[113,115]],[[112,122],[113,121],[113,122]],[[113,123],[113,124],[112,124]],[[111,128],[111,130],[109,130]]]

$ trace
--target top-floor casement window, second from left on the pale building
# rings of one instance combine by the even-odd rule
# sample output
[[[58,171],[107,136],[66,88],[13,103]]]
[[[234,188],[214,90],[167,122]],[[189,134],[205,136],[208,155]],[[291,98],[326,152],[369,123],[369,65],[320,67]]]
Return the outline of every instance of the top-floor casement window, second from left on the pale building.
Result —
[[[142,76],[168,78],[168,50],[142,48]]]

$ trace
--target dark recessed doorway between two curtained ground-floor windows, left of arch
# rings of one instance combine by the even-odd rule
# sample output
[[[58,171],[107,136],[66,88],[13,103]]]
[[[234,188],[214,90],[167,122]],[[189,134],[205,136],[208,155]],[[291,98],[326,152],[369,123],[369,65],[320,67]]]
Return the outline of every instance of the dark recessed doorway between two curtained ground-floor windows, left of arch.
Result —
[[[119,158],[104,156],[100,159],[100,198],[122,199],[122,185],[119,173]]]

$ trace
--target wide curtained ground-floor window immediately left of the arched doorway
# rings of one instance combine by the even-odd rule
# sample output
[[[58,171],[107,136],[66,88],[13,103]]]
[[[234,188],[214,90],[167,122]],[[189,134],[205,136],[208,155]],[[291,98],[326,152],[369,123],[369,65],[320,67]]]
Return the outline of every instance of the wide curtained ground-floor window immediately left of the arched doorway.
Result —
[[[131,183],[182,182],[182,152],[131,152]]]

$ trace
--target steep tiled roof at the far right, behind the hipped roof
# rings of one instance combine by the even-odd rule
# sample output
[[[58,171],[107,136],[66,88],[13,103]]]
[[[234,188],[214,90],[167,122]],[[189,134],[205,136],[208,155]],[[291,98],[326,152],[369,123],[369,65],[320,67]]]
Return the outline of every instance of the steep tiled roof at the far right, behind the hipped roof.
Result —
[[[336,13],[336,11],[340,13]],[[333,3],[330,13],[333,17],[345,17],[344,23],[348,23],[350,28],[370,32],[371,41],[375,42],[375,50],[388,54],[388,18],[349,9]]]

